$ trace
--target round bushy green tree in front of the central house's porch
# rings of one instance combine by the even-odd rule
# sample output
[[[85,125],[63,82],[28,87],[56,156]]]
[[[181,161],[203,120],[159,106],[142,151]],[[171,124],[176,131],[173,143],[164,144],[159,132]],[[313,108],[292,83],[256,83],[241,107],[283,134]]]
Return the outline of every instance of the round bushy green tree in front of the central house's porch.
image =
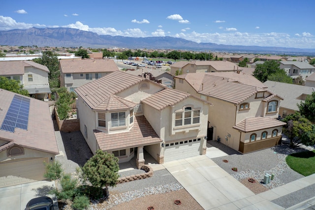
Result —
[[[116,186],[119,178],[118,157],[114,154],[97,150],[82,167],[83,177],[94,187],[105,187],[105,196],[109,196],[108,186]]]

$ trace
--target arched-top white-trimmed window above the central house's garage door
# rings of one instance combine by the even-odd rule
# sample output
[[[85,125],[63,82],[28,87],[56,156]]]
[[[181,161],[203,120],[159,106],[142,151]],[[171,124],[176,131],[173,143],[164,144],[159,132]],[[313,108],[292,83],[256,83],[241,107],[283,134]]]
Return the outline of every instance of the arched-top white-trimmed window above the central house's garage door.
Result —
[[[200,121],[200,110],[193,110],[186,107],[184,112],[175,113],[175,126],[196,124]]]

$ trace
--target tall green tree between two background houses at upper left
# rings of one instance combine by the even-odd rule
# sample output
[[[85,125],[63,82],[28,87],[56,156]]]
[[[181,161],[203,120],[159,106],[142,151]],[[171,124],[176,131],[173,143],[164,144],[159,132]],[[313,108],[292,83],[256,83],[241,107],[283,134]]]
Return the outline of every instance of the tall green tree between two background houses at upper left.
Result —
[[[59,88],[60,87],[60,71],[59,71],[59,60],[58,54],[51,51],[43,52],[41,58],[33,59],[34,62],[47,66],[49,69],[48,79],[50,88]]]

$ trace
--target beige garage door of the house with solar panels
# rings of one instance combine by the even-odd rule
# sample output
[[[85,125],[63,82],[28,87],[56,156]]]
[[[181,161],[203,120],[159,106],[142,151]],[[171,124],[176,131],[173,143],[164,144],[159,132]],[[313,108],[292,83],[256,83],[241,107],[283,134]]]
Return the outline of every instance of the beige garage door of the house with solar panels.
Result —
[[[43,177],[45,173],[44,161],[48,162],[48,157],[1,163],[0,187],[46,180]]]

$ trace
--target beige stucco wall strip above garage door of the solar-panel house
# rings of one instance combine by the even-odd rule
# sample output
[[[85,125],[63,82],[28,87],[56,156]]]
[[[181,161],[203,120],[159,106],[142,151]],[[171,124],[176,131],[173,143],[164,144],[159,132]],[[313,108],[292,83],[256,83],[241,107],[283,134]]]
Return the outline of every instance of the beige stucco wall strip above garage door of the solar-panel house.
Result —
[[[40,151],[40,150],[33,150],[29,148],[23,148],[24,149],[24,154],[22,155],[14,155],[14,156],[7,156],[7,150],[3,150],[0,152],[0,162],[3,161],[14,161],[22,158],[37,158],[37,157],[48,157],[49,160],[52,157],[53,160],[55,160],[55,154],[45,152],[45,151]]]

